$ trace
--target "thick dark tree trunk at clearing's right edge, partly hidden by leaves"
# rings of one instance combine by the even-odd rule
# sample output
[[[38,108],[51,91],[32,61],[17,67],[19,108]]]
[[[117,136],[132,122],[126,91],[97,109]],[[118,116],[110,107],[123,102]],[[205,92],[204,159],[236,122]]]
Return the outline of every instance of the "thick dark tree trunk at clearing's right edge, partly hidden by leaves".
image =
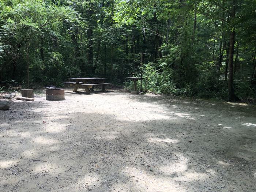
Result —
[[[236,16],[236,0],[232,0],[232,9],[230,18],[233,20]],[[234,28],[230,31],[230,39],[229,39],[229,100],[230,101],[238,101],[238,97],[234,92],[234,82],[233,82],[233,62],[234,62],[234,44],[235,44],[235,31]]]

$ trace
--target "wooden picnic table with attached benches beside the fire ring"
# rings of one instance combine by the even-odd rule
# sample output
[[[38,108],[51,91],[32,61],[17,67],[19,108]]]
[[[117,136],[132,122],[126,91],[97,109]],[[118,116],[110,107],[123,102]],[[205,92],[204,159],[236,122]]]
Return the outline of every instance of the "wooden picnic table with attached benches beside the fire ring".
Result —
[[[69,80],[73,80],[74,82],[65,82],[64,84],[70,84],[71,86],[74,86],[73,92],[77,92],[78,88],[83,87],[86,90],[86,93],[90,93],[90,90],[93,91],[94,86],[101,85],[102,91],[106,91],[105,86],[107,84],[111,83],[105,83],[106,78],[99,78],[99,77],[93,77],[93,78],[68,78]],[[89,90],[90,88],[90,90]]]

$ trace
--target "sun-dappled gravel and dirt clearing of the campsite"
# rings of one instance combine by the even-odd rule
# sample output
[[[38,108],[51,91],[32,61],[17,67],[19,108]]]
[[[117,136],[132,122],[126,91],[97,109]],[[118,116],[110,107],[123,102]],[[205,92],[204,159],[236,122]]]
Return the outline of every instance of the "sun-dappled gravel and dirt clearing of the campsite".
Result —
[[[0,191],[256,191],[256,109],[65,93],[0,111]]]

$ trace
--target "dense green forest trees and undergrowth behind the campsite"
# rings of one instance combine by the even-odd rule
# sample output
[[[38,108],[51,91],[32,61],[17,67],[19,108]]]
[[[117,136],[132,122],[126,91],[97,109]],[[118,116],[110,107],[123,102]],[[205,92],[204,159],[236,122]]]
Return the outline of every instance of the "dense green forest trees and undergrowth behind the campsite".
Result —
[[[1,0],[0,86],[27,86],[29,71],[34,87],[71,76],[105,76],[131,89],[125,77],[140,76],[142,68],[147,91],[256,98],[255,5],[255,0]]]

